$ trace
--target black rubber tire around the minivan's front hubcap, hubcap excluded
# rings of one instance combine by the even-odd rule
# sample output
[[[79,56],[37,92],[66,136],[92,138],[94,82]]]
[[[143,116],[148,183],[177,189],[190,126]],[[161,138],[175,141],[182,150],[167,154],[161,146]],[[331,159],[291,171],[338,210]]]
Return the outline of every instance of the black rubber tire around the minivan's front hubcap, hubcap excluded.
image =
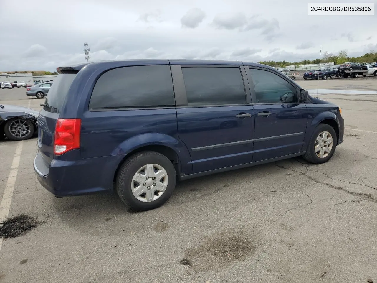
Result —
[[[327,154],[327,155],[325,155],[324,157],[319,157],[316,153],[316,149],[317,149],[317,146],[318,146],[318,145],[316,145],[316,141],[318,143],[317,138],[319,138],[319,135],[323,132],[327,132],[331,135],[332,146],[331,146],[331,148],[327,147],[328,149],[330,149],[330,152],[325,152],[325,154]],[[328,137],[329,137],[329,135],[328,135]],[[314,164],[325,163],[333,156],[335,148],[336,148],[336,143],[337,143],[337,136],[336,136],[336,132],[333,129],[333,127],[331,127],[330,125],[327,125],[327,124],[319,124],[310,137],[308,148],[307,148],[305,154],[303,155],[303,158],[305,160],[311,162],[311,163],[314,163]],[[322,148],[322,147],[320,147],[320,148]]]

